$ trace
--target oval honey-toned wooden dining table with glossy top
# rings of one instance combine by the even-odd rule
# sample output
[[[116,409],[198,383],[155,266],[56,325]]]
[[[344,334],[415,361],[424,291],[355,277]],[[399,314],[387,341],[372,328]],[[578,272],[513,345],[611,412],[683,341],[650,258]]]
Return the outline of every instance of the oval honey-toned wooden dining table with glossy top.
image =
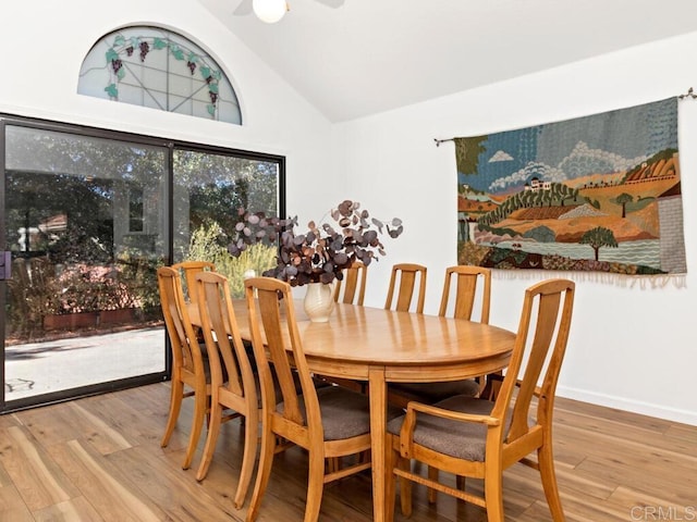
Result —
[[[248,311],[233,300],[242,337]],[[303,350],[311,372],[367,383],[370,407],[374,520],[386,520],[388,383],[460,381],[503,370],[515,334],[464,319],[337,303],[328,322],[307,319],[294,301]],[[197,311],[191,311],[196,322]]]

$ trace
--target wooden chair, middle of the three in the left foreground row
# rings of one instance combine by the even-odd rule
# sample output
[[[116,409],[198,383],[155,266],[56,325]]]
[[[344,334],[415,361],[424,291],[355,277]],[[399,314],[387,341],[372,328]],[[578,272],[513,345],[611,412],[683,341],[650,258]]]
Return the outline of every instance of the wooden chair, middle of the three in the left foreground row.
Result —
[[[196,480],[203,481],[216,451],[221,423],[244,418],[244,451],[234,506],[240,509],[252,483],[260,420],[256,378],[242,343],[228,278],[216,272],[194,276],[200,328],[210,361],[210,420]]]

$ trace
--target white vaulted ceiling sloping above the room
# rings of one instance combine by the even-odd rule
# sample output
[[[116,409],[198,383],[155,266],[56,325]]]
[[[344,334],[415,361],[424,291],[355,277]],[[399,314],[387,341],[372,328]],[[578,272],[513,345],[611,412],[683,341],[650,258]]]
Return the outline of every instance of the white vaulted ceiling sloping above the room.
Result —
[[[697,30],[696,0],[197,1],[332,122]]]

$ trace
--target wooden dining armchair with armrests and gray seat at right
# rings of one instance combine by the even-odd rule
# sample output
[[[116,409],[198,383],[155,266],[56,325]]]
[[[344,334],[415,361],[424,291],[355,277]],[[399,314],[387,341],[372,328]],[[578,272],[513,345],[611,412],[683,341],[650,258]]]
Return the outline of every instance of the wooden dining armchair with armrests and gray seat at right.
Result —
[[[405,515],[412,511],[412,483],[416,482],[485,508],[489,522],[503,522],[503,471],[516,462],[540,472],[552,519],[564,521],[552,455],[552,417],[574,293],[575,284],[567,279],[548,279],[525,291],[511,361],[496,401],[466,396],[436,405],[414,401],[405,415],[388,423],[388,521],[394,515],[399,476]],[[533,397],[536,414],[530,411]],[[530,460],[534,451],[537,459]],[[423,476],[412,471],[412,460],[481,478],[484,496],[444,485],[431,473]]]

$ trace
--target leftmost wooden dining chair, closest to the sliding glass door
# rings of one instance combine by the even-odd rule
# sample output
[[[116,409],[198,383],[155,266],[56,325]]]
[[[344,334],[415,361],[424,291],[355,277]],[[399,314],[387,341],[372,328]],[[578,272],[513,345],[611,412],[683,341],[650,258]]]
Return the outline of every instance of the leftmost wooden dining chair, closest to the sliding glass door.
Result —
[[[170,412],[160,446],[170,442],[185,397],[194,397],[194,417],[183,469],[191,467],[210,402],[208,359],[201,353],[182,291],[180,272],[170,266],[157,270],[164,325],[172,350]]]

